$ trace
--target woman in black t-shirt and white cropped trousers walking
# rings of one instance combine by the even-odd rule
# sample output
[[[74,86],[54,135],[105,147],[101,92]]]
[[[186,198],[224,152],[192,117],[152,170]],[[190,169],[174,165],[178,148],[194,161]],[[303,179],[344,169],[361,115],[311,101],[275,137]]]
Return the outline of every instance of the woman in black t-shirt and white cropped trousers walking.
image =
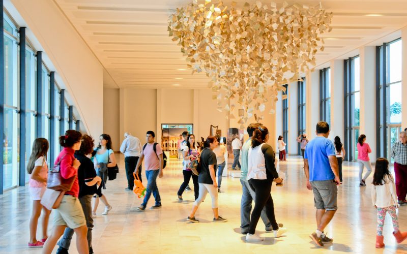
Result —
[[[198,210],[198,206],[207,196],[207,193],[211,195],[213,221],[224,222],[227,219],[222,218],[218,214],[218,184],[216,182],[216,154],[212,151],[218,146],[218,140],[209,136],[203,143],[205,147],[200,153],[200,172],[198,176],[199,184],[199,197],[195,200],[191,214],[187,217],[187,220],[198,223],[199,220],[195,219],[195,212]]]

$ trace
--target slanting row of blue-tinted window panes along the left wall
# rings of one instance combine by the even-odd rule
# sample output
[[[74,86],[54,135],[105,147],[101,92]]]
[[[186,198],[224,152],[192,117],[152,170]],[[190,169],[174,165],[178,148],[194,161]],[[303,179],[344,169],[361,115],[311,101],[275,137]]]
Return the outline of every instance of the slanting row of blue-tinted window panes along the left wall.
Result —
[[[23,167],[26,168],[28,158],[30,158],[34,140],[37,138],[37,119],[41,118],[41,132],[38,137],[44,137],[48,141],[55,139],[54,151],[59,153],[60,145],[58,140],[60,134],[61,116],[61,94],[60,89],[55,85],[55,93],[50,94],[49,70],[42,63],[41,70],[37,70],[36,50],[26,40],[25,54],[22,57],[25,61],[25,126],[20,126],[20,38],[17,33],[19,27],[15,22],[4,13],[4,90],[1,91],[4,96],[4,119],[0,121],[3,124],[3,185],[0,185],[0,194],[3,190],[18,186],[20,182],[28,182],[30,175],[25,171],[20,174],[20,159]],[[42,80],[37,84],[37,73],[41,72]],[[37,94],[37,86],[41,86],[41,94]],[[50,105],[51,97],[55,97],[55,105]],[[37,102],[41,98],[42,112],[37,112]],[[64,100],[65,101],[65,100]],[[50,137],[50,108],[55,107],[56,134]],[[68,113],[68,112],[67,112]],[[67,117],[68,119],[69,117]],[[75,118],[77,119],[77,118]],[[64,123],[65,124],[65,123]],[[20,138],[20,127],[22,128]],[[22,151],[20,158],[20,142],[25,142],[25,150]],[[48,156],[49,162],[49,156]]]

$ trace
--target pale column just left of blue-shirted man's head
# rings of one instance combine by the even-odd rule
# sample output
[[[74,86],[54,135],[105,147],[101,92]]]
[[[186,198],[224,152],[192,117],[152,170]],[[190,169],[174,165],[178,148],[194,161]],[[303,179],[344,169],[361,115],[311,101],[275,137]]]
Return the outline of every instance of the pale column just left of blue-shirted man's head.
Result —
[[[315,138],[315,126],[319,121],[319,70],[308,72],[306,76],[306,125],[309,139]]]

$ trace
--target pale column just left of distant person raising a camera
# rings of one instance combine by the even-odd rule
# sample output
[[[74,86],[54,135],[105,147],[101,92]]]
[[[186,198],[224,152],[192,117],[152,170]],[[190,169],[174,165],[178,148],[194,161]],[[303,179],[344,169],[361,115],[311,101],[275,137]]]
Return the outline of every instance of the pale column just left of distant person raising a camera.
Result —
[[[298,154],[298,83],[288,84],[288,152]]]

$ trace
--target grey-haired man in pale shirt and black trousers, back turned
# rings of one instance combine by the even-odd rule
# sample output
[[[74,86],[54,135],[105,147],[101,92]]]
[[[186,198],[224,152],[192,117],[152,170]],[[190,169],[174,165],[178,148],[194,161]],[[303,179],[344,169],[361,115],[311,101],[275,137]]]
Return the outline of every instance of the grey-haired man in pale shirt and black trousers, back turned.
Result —
[[[124,140],[120,146],[120,151],[124,154],[124,162],[126,165],[126,175],[127,175],[127,188],[126,191],[131,192],[134,187],[134,177],[133,172],[136,169],[138,158],[141,155],[141,143],[136,137],[131,136],[129,132],[124,134]],[[138,178],[141,181],[141,165],[138,168]]]

